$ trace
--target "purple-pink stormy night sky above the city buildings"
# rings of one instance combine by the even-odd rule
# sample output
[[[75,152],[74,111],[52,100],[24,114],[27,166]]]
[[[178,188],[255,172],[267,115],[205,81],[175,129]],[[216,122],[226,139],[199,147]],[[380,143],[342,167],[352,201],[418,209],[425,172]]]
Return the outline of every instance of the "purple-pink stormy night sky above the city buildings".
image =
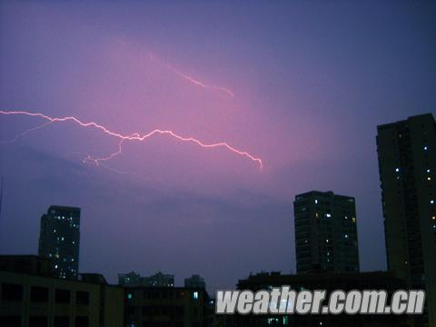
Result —
[[[74,115],[0,144],[0,253],[36,253],[50,204],[82,208],[82,272],[200,273],[209,291],[294,271],[292,200],[356,197],[363,271],[385,269],[376,125],[436,108],[436,4],[0,3],[0,110]],[[203,87],[181,74],[191,76]],[[234,96],[218,87],[230,90]],[[0,115],[0,140],[44,124]]]

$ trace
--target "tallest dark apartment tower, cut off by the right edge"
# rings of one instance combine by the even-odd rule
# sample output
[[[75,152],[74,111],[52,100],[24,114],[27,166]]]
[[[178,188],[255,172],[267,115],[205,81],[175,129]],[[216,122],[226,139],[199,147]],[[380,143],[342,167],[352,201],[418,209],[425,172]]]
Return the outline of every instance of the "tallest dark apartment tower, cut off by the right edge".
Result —
[[[377,132],[388,268],[426,289],[436,326],[436,123],[422,114]]]

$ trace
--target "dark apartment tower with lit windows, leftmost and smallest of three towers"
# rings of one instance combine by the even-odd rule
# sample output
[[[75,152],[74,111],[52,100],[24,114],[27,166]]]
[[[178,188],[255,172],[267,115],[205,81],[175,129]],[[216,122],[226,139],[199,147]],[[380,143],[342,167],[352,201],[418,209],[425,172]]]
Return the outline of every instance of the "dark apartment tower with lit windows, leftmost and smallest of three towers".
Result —
[[[41,217],[38,253],[52,260],[59,278],[77,279],[79,244],[80,208],[50,206]]]

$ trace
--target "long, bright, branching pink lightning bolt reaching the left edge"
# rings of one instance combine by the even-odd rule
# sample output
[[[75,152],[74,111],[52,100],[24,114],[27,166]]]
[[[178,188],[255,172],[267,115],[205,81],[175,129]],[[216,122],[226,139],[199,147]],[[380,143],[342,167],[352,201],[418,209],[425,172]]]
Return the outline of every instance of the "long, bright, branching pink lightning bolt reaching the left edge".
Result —
[[[205,144],[196,138],[184,137],[184,136],[181,136],[179,134],[175,134],[173,131],[170,131],[170,130],[154,129],[152,132],[147,133],[147,134],[139,134],[139,133],[120,134],[120,133],[116,133],[116,132],[109,130],[109,128],[105,127],[102,124],[97,124],[94,122],[86,122],[85,123],[74,116],[51,117],[51,116],[41,114],[41,113],[30,113],[30,112],[26,112],[26,111],[3,111],[3,110],[0,110],[0,114],[2,114],[2,115],[25,115],[25,116],[30,116],[30,117],[43,118],[46,121],[45,124],[38,125],[34,128],[31,128],[30,130],[27,130],[24,133],[15,136],[14,139],[12,139],[8,142],[13,142],[18,137],[21,137],[25,134],[29,134],[30,132],[35,131],[37,129],[41,129],[48,124],[64,123],[64,122],[73,122],[74,124],[78,124],[82,127],[94,128],[94,129],[97,129],[97,130],[103,132],[104,134],[107,134],[107,135],[110,135],[110,136],[113,136],[113,137],[119,139],[120,142],[118,143],[118,150],[116,152],[114,152],[113,154],[110,154],[110,155],[108,155],[106,157],[102,157],[102,158],[96,158],[96,157],[93,157],[93,156],[88,154],[88,156],[84,158],[84,160],[83,160],[84,163],[94,163],[97,166],[103,165],[103,162],[109,161],[109,160],[113,159],[115,156],[117,156],[118,154],[121,154],[122,153],[122,146],[123,146],[125,141],[144,142],[146,139],[148,139],[154,135],[169,135],[169,136],[175,138],[176,140],[179,140],[182,142],[187,142],[187,143],[197,144],[197,145],[199,145],[203,148],[206,148],[206,149],[223,147],[223,148],[229,150],[230,152],[232,152],[233,154],[241,155],[241,156],[244,156],[244,157],[250,159],[254,163],[257,163],[261,170],[263,169],[263,163],[262,163],[261,158],[255,157],[255,156],[253,156],[253,154],[249,154],[246,151],[238,150],[230,144],[227,144],[225,142],[219,142],[219,143],[214,143],[214,144]],[[105,167],[108,168],[107,166],[105,166]]]

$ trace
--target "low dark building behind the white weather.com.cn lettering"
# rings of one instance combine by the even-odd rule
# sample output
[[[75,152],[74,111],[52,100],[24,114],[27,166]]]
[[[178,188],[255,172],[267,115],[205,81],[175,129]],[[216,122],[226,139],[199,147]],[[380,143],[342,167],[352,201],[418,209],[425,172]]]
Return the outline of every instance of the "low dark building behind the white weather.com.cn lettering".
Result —
[[[334,290],[386,290],[391,294],[404,288],[404,282],[392,272],[303,273],[287,275],[261,272],[238,282],[238,290],[268,290],[290,286],[292,290],[326,290],[326,299]],[[328,300],[326,300],[328,301]],[[234,327],[298,326],[298,327],[408,327],[411,317],[401,314],[236,314]]]

